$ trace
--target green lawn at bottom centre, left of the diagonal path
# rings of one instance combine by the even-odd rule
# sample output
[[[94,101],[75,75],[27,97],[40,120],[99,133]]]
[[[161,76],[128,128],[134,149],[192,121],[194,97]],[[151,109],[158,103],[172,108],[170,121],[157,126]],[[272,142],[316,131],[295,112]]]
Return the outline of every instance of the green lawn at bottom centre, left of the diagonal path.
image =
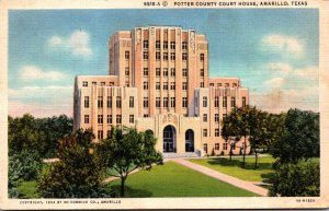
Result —
[[[120,196],[121,180],[111,183]],[[253,197],[258,196],[173,162],[129,175],[125,197]]]

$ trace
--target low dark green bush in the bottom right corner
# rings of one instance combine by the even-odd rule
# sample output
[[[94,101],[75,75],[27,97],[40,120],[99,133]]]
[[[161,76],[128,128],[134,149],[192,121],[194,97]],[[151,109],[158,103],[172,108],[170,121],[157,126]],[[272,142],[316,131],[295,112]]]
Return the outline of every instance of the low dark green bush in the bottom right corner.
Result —
[[[317,160],[298,163],[276,163],[271,178],[270,196],[318,197],[320,195],[320,167]]]

